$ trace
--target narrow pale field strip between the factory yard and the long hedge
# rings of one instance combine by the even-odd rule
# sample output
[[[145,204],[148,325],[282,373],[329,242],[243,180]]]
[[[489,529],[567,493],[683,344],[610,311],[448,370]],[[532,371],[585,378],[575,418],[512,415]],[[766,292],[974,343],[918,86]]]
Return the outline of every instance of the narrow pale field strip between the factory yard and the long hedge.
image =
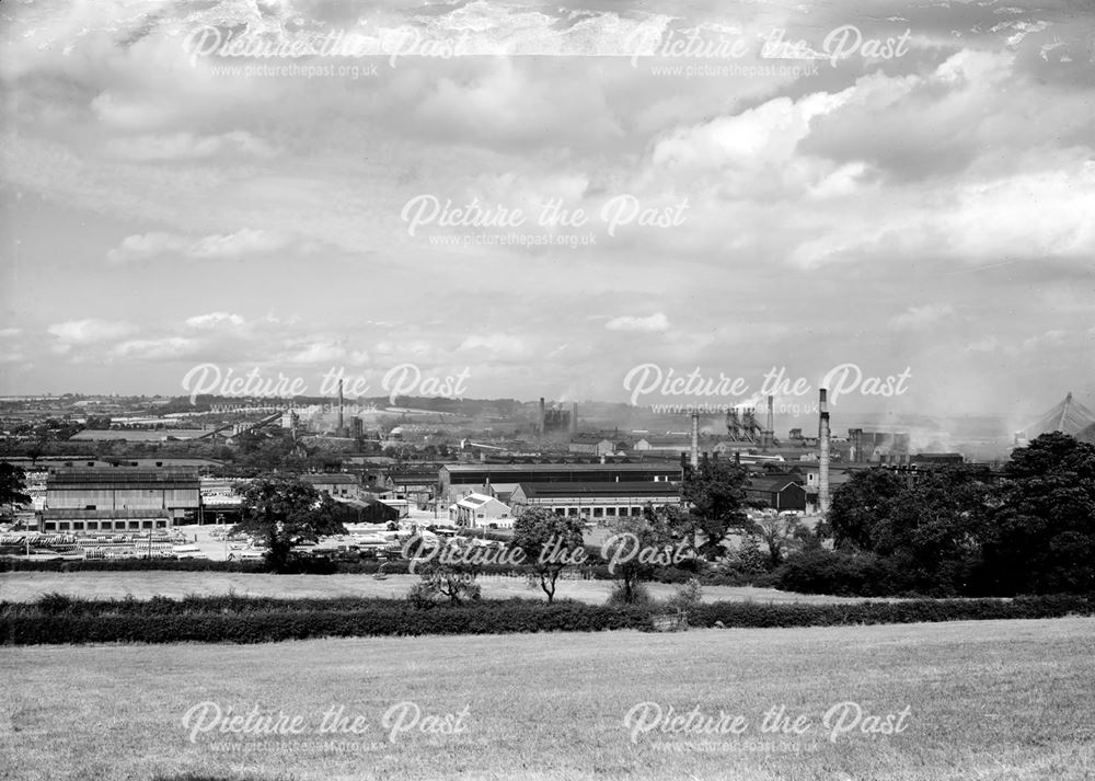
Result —
[[[87,598],[123,598],[131,594],[137,599],[155,595],[180,598],[187,594],[201,596],[228,594],[240,596],[276,597],[404,597],[417,582],[414,575],[390,575],[378,581],[372,575],[255,575],[220,572],[5,572],[0,573],[0,599],[30,601],[43,594],[59,592]],[[530,588],[520,578],[485,577],[483,596],[505,599],[525,597],[546,599],[539,587]],[[669,597],[676,587],[650,584],[656,597]],[[612,584],[609,581],[561,581],[556,596],[601,604],[608,599]],[[704,597],[716,599],[752,599],[761,602],[842,602],[862,601],[805,594],[779,592],[774,588],[748,586],[710,586]]]

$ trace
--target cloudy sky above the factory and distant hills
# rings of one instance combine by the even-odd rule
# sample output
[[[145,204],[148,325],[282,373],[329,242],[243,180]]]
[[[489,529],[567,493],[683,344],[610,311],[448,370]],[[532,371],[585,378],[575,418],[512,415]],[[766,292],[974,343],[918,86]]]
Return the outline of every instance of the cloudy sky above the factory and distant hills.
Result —
[[[1083,0],[0,21],[0,394],[1095,404]]]

